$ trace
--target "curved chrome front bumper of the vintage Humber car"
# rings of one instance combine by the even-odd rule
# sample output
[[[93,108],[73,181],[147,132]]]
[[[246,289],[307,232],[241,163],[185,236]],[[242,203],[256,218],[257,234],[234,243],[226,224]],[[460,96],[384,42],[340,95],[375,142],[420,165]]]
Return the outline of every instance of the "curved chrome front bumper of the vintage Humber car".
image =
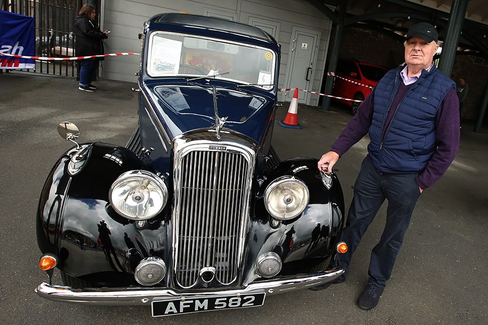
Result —
[[[285,277],[278,280],[264,280],[253,282],[243,288],[229,290],[208,289],[197,292],[191,290],[176,291],[168,288],[72,288],[63,286],[53,286],[45,282],[41,283],[35,291],[42,298],[49,300],[91,304],[91,305],[150,305],[155,298],[174,299],[179,297],[190,298],[192,296],[212,296],[212,295],[237,295],[248,292],[264,291],[266,295],[284,293],[295,289],[315,287],[335,280],[344,273],[342,267],[337,267],[327,271],[314,274]]]

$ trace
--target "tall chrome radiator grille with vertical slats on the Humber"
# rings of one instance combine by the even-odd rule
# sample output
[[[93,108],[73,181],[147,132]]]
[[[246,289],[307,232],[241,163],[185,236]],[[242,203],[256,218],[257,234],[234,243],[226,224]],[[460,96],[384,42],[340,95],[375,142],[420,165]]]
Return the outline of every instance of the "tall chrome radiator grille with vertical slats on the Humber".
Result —
[[[228,146],[209,147],[187,148],[175,158],[174,265],[183,287],[195,284],[205,267],[230,284],[243,258],[254,159]]]

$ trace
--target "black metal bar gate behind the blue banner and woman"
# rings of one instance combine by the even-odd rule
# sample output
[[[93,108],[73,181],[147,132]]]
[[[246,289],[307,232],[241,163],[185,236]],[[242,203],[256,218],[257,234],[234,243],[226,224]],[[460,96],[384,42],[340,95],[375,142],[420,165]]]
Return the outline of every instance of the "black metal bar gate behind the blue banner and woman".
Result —
[[[75,38],[73,21],[82,0],[0,0],[0,9],[35,17],[37,57],[73,57]],[[77,76],[77,64],[71,60],[36,61],[36,72],[52,76]]]

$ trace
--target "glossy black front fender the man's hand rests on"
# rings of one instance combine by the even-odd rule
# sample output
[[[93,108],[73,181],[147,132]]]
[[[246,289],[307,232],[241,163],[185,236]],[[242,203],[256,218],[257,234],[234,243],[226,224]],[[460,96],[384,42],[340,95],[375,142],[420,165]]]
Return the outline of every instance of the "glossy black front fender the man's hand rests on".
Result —
[[[278,254],[283,262],[281,274],[307,273],[310,268],[325,261],[335,249],[344,225],[344,197],[341,184],[332,172],[332,187],[327,189],[317,169],[317,159],[293,158],[281,162],[269,171],[259,191],[261,201],[256,204],[255,220],[249,231],[249,263],[266,252]],[[290,175],[302,180],[308,187],[310,199],[307,207],[298,217],[288,221],[277,221],[264,207],[264,190],[272,180]],[[255,269],[254,269],[255,273]],[[255,275],[246,275],[248,281]]]

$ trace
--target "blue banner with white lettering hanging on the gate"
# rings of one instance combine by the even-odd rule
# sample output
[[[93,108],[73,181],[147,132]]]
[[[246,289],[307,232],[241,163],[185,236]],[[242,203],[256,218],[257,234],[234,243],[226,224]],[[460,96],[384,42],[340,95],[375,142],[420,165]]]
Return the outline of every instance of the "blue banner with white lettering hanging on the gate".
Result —
[[[0,10],[0,69],[34,69],[31,58],[7,57],[14,54],[33,57],[34,18]]]

